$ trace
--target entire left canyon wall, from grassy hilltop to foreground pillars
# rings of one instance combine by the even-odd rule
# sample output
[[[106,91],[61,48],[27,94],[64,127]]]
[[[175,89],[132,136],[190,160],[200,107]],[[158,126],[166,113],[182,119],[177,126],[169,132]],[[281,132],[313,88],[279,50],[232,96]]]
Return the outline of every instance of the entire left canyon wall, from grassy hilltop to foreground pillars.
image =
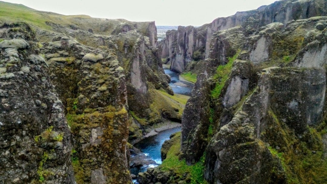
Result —
[[[128,140],[183,109],[154,22],[0,4],[0,183],[130,183]],[[16,23],[16,11],[34,18]]]

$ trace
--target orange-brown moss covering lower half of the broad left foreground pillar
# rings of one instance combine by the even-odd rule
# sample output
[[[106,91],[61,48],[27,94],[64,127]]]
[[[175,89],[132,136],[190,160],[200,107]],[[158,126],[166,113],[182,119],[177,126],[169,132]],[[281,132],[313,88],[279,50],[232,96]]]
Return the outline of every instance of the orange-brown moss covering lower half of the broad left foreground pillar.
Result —
[[[75,112],[71,109],[70,113]],[[87,110],[87,109],[86,109]],[[84,110],[85,111],[85,110]],[[117,164],[116,144],[117,137],[124,136],[124,126],[118,126],[125,121],[127,111],[125,108],[116,109],[113,106],[107,106],[101,109],[91,109],[90,113],[67,114],[67,122],[70,125],[74,138],[77,141],[72,152],[72,166],[74,169],[77,184],[88,183],[91,178],[91,170],[94,169],[93,158],[102,157],[102,169],[110,174],[111,178],[122,178],[129,176],[128,170],[120,173],[116,172],[122,164]],[[87,142],[92,141],[88,144]],[[84,146],[82,149],[82,145]],[[115,158],[115,159],[114,159]],[[109,176],[108,176],[109,177]],[[112,181],[115,183],[118,181]]]

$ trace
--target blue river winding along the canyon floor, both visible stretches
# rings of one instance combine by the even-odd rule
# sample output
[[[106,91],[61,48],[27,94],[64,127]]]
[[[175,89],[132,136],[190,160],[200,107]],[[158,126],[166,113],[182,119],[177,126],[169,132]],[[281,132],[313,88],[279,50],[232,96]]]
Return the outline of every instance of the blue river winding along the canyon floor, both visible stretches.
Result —
[[[168,68],[163,68],[166,75],[170,77],[169,86],[174,93],[191,95],[191,91],[194,84],[189,82],[184,82],[179,79],[179,73],[173,72]],[[147,137],[142,141],[134,144],[134,146],[142,151],[142,153],[131,154],[131,159],[136,156],[142,155],[144,160],[149,160],[148,165],[143,165],[141,167],[134,167],[130,169],[130,173],[138,175],[139,172],[145,172],[149,167],[157,167],[162,163],[161,160],[161,147],[163,142],[169,140],[169,136],[175,132],[181,131],[181,127],[171,128],[159,132],[157,135]],[[133,179],[134,184],[138,184],[136,179]]]

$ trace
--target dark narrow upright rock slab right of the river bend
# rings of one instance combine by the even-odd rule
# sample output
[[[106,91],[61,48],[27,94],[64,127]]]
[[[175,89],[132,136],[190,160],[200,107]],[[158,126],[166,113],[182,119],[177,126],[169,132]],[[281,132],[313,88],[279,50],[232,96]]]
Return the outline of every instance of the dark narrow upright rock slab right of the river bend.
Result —
[[[211,87],[206,79],[204,74],[198,76],[199,82],[194,86],[182,115],[181,151],[188,164],[195,163],[202,156],[207,144]]]

